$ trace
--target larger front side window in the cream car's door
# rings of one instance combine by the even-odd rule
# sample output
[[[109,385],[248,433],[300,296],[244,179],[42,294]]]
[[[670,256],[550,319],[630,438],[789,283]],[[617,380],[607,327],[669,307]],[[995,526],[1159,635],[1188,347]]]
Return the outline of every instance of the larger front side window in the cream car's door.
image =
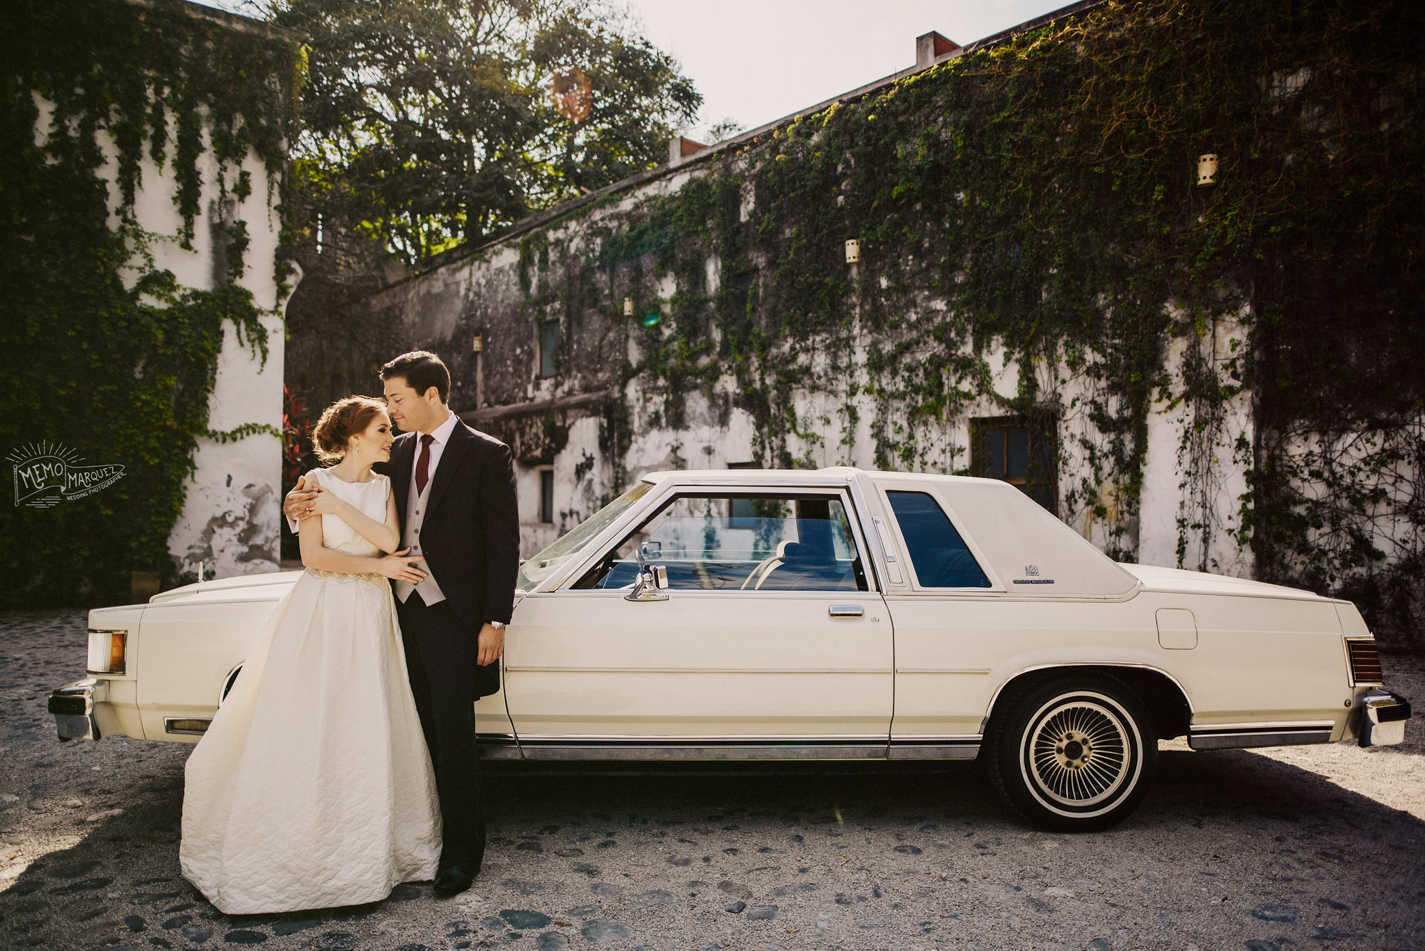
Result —
[[[631,589],[638,553],[673,590],[864,592],[861,552],[835,495],[680,495],[610,549],[576,589]]]

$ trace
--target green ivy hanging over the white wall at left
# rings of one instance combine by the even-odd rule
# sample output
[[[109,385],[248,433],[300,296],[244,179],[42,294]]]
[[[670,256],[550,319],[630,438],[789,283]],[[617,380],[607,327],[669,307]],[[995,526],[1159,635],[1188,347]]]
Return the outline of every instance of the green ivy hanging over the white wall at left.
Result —
[[[0,38],[0,348],[11,405],[0,442],[10,453],[61,443],[83,465],[123,465],[124,478],[50,509],[0,506],[10,579],[0,603],[121,603],[130,572],[174,576],[167,542],[198,438],[271,431],[208,429],[224,327],[266,358],[264,311],[232,282],[247,224],[227,225],[227,282],[214,289],[180,287],[152,247],[191,247],[211,200],[205,151],[218,158],[222,195],[251,194],[251,175],[232,171],[248,154],[281,173],[302,54],[261,27],[170,0],[10,7]],[[141,180],[145,155],[177,183],[174,235],[134,218],[140,190],[161,187]]]

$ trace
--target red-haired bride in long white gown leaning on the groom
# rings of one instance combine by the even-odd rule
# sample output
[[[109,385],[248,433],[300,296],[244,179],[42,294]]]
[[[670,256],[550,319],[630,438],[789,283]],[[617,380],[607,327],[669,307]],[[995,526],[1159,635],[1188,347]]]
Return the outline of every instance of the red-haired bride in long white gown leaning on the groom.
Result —
[[[440,811],[388,579],[425,572],[400,543],[390,419],[366,396],[326,408],[322,518],[306,572],[272,609],[188,757],[182,873],[225,914],[351,905],[435,877]],[[380,553],[386,552],[385,557]]]

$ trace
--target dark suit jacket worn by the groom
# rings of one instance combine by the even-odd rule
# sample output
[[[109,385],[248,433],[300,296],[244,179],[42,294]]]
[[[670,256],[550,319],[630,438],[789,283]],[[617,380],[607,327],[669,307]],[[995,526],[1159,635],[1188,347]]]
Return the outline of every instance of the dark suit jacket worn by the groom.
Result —
[[[419,435],[402,433],[390,446],[389,472],[402,535]],[[509,446],[456,421],[430,476],[420,550],[472,637],[484,622],[510,622],[520,570],[520,515]],[[499,690],[499,663],[477,669],[476,696]]]

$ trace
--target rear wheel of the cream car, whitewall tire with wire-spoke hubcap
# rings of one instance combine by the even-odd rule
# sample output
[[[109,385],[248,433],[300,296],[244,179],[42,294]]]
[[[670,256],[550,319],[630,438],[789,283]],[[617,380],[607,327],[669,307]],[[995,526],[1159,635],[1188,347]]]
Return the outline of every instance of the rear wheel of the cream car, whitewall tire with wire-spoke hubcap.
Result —
[[[1030,823],[1066,833],[1109,828],[1147,793],[1157,734],[1117,680],[1060,676],[1002,703],[985,736],[985,767]]]

